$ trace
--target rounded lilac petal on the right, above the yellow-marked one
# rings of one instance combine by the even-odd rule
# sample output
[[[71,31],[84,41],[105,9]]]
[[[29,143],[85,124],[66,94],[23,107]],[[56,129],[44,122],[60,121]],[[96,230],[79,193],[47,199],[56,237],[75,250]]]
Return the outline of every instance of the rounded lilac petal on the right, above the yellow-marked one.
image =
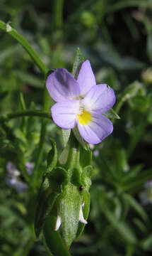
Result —
[[[88,112],[105,113],[115,104],[115,92],[107,85],[95,85],[81,101]]]

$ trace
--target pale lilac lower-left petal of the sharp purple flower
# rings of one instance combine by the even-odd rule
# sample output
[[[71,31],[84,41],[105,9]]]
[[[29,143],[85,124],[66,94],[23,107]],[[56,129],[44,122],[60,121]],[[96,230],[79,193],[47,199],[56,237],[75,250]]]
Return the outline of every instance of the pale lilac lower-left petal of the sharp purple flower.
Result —
[[[72,129],[76,126],[76,114],[79,110],[79,100],[57,102],[51,108],[52,119],[59,127]]]

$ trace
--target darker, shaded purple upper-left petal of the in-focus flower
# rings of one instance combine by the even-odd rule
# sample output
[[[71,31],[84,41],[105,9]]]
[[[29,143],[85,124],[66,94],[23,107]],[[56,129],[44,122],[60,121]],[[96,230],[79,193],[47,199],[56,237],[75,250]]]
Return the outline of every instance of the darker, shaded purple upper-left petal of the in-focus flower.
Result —
[[[74,100],[80,95],[78,82],[65,68],[57,68],[50,74],[46,86],[49,95],[56,102]]]

